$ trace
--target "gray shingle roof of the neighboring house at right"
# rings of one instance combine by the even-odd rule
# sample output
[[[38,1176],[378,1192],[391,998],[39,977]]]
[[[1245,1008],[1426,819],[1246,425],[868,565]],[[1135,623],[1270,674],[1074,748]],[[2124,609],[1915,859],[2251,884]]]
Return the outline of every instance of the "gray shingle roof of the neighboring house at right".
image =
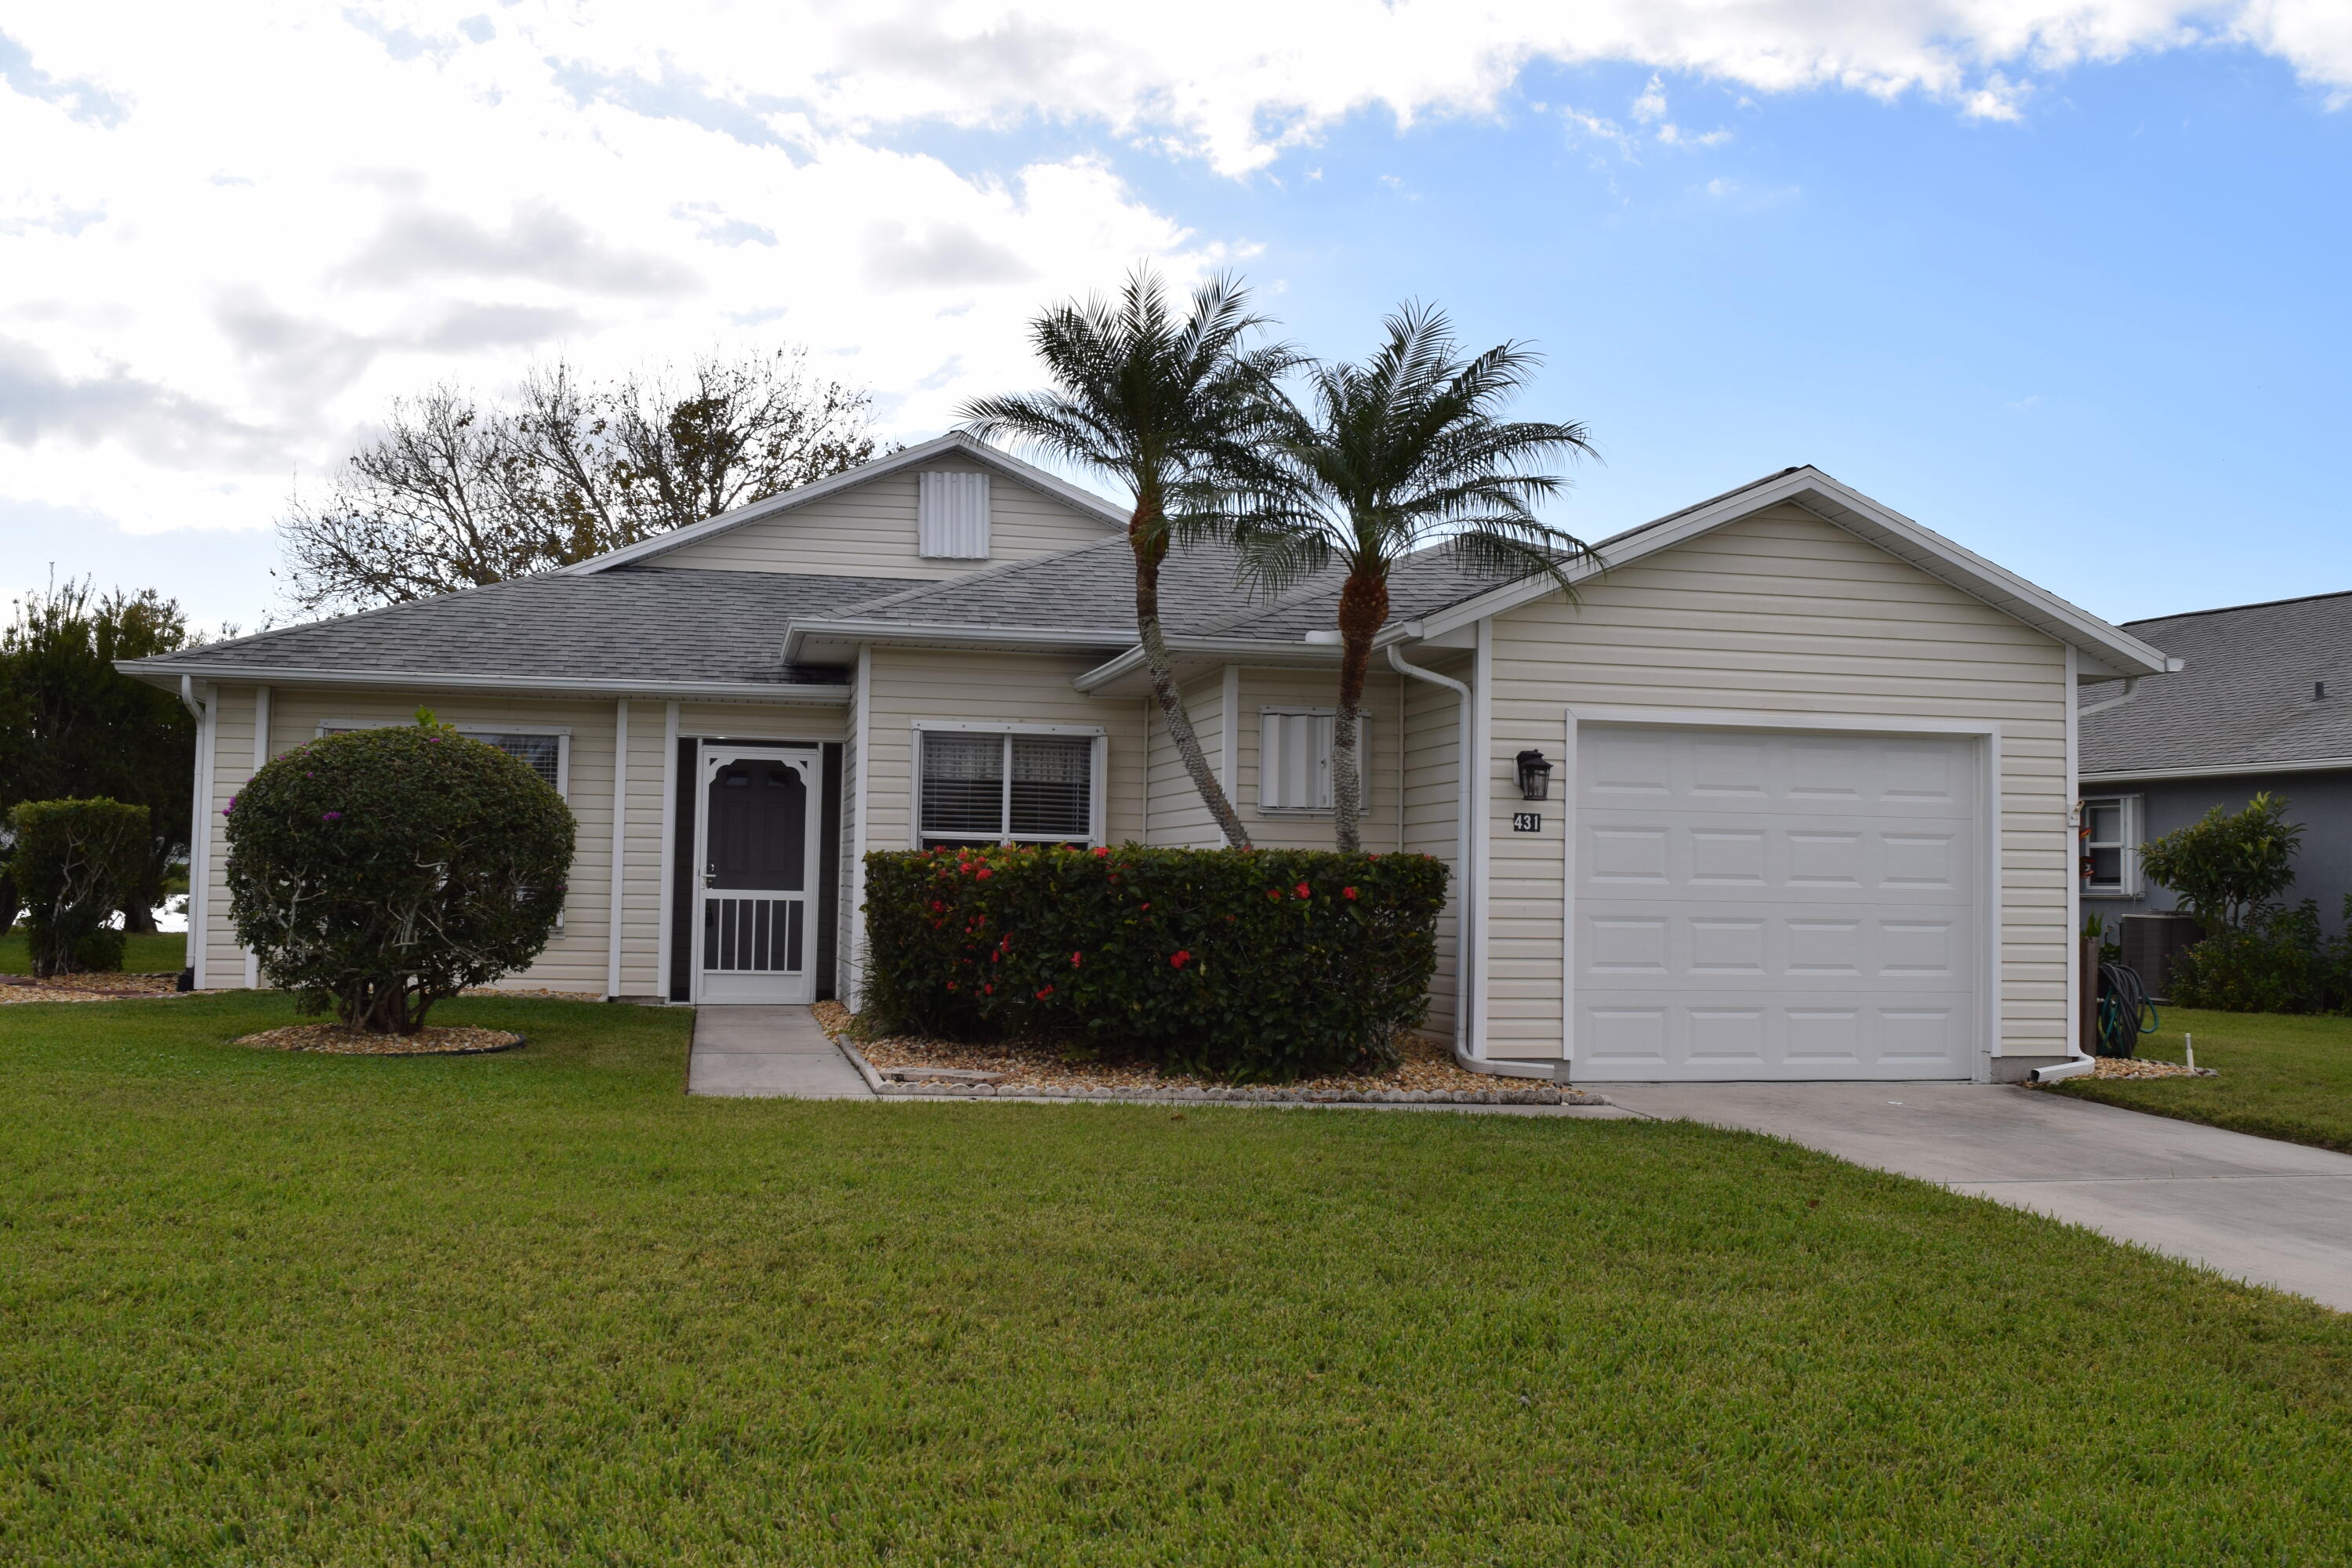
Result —
[[[2251,769],[2352,757],[2352,592],[2126,621],[2187,661],[2138,696],[2082,719],[2082,771]],[[2312,682],[2328,696],[2312,698]],[[2084,703],[2122,691],[2082,689]]]

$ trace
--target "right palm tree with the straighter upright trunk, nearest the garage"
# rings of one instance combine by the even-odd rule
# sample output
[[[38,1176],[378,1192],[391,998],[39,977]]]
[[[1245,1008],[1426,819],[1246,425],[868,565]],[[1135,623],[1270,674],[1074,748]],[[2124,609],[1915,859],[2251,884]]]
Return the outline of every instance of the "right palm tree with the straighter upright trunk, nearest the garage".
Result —
[[[1277,409],[1261,449],[1265,468],[1235,522],[1244,574],[1265,592],[1331,564],[1348,574],[1331,745],[1331,818],[1343,851],[1362,846],[1364,670],[1388,623],[1395,564],[1442,541],[1479,576],[1543,576],[1573,599],[1569,569],[1599,562],[1590,545],[1534,512],[1566,487],[1536,468],[1555,454],[1590,456],[1585,428],[1501,418],[1541,357],[1498,343],[1465,360],[1432,306],[1409,303],[1385,327],[1388,341],[1364,364],[1312,364],[1308,407]]]

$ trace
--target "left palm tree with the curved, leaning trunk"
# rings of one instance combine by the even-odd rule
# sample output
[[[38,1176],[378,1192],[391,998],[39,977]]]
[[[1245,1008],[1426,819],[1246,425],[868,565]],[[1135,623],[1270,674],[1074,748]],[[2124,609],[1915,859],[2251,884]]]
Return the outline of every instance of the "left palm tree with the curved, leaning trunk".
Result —
[[[1249,830],[1209,771],[1176,689],[1160,628],[1160,564],[1176,538],[1223,531],[1232,475],[1256,461],[1277,402],[1272,381],[1296,362],[1289,348],[1247,343],[1265,324],[1232,277],[1192,289],[1178,317],[1160,275],[1138,266],[1117,299],[1065,301],[1030,322],[1051,390],[976,397],[962,409],[978,437],[1094,468],[1134,494],[1136,639],[1185,773],[1235,849],[1249,849]]]

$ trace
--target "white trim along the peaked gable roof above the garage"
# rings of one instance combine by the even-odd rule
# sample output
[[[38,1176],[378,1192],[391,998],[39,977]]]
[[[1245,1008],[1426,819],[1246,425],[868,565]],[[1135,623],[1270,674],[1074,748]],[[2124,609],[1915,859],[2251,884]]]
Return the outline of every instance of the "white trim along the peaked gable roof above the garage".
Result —
[[[1597,550],[1606,567],[1625,567],[1644,555],[1656,555],[1773,505],[1802,505],[1823,522],[1846,529],[1856,538],[1886,550],[1896,559],[1910,562],[1969,597],[1983,599],[1992,609],[2091,654],[2117,675],[2164,675],[2180,668],[2178,661],[2166,658],[2131,632],[2107,625],[2091,611],[2077,609],[2044,588],[2034,588],[2016,571],[1994,567],[1983,555],[1955,545],[1943,534],[1919,527],[1903,512],[1879,505],[1818,468],[1790,468],[1686,512],[1672,512],[1658,522],[1628,529],[1616,538],[1604,538]],[[1569,569],[1569,578],[1583,581],[1599,571],[1602,567],[1578,564]],[[1442,637],[1461,625],[1531,604],[1548,592],[1557,592],[1557,588],[1545,578],[1510,583],[1508,588],[1496,588],[1494,592],[1411,621],[1406,623],[1406,632],[1411,637]]]

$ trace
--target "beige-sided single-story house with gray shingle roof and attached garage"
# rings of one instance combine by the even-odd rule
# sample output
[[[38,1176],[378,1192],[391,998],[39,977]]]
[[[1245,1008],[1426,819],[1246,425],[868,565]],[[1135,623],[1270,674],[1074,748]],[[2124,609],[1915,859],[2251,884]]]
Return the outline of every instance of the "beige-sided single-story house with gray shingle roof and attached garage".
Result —
[[[254,983],[228,797],[419,705],[579,816],[564,929],[517,987],[854,1004],[870,849],[1211,846],[1145,689],[1124,520],[943,437],[557,574],[127,665],[202,719],[195,980]],[[2074,682],[2164,654],[1813,468],[1602,550],[1581,604],[1439,552],[1397,574],[1364,842],[1454,867],[1430,1027],[1576,1079],[2065,1058]],[[1251,602],[1218,550],[1167,567],[1192,719],[1258,844],[1331,842],[1334,599]]]

